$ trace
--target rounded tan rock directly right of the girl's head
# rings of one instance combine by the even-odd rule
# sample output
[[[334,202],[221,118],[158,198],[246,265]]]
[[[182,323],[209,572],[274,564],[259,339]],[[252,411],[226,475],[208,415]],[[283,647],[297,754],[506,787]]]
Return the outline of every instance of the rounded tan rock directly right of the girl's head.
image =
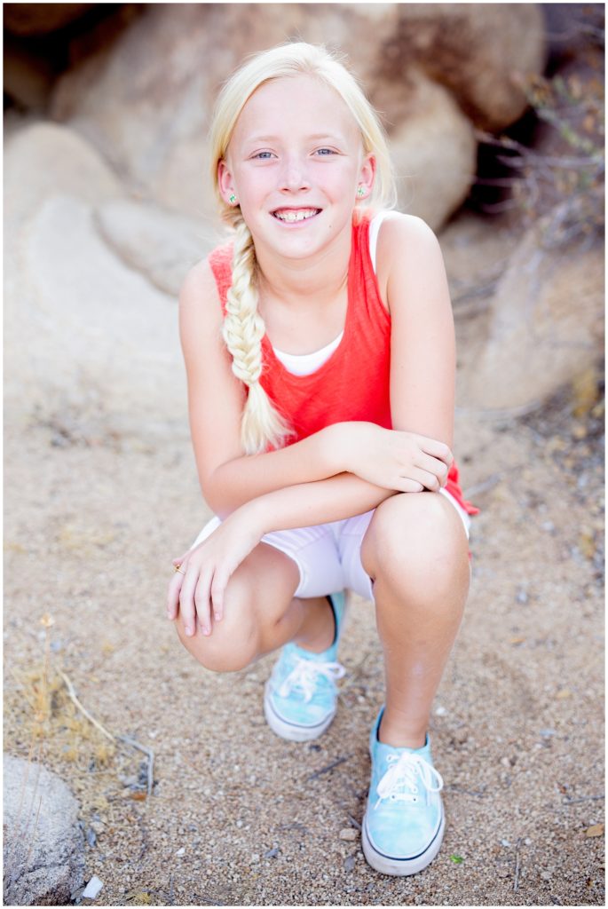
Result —
[[[410,71],[405,85],[393,86],[395,92],[408,99],[391,134],[399,209],[419,215],[436,230],[462,205],[473,182],[477,157],[473,126],[454,96],[422,73]],[[384,92],[384,108],[387,100]]]

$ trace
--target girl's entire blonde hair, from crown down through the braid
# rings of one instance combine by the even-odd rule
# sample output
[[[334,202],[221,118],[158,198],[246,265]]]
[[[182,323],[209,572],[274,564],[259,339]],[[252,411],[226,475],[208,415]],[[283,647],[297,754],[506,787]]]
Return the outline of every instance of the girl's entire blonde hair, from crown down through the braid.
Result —
[[[224,160],[234,125],[254,91],[271,79],[314,75],[340,95],[361,131],[364,153],[373,153],[376,172],[372,193],[363,205],[394,208],[396,189],[384,129],[364,91],[338,55],[321,45],[294,42],[250,57],[224,85],[217,98],[210,130],[211,167],[220,212],[234,229],[233,284],[228,291],[224,341],[233,357],[233,372],[248,388],[241,423],[246,454],[269,445],[284,445],[293,432],[271,403],[260,383],[264,322],[257,311],[256,260],[252,235],[238,205],[226,205],[218,184],[218,165]],[[362,204],[360,204],[362,205]]]

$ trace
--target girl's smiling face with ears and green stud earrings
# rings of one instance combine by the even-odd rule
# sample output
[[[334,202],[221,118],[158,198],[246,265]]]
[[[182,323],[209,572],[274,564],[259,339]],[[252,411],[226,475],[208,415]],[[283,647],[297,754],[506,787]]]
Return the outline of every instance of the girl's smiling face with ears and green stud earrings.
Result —
[[[241,206],[258,253],[263,246],[305,258],[350,235],[354,203],[370,194],[374,169],[340,95],[303,74],[264,83],[249,98],[218,178],[226,203],[234,195]]]

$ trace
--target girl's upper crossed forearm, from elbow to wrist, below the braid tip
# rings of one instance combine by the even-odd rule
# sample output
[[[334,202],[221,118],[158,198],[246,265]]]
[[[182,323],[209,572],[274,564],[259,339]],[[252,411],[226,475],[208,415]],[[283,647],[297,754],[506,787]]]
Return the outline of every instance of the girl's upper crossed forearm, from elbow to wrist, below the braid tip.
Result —
[[[278,451],[244,455],[221,464],[204,484],[207,504],[215,514],[226,517],[260,496],[344,473],[358,428],[355,423],[326,426]]]

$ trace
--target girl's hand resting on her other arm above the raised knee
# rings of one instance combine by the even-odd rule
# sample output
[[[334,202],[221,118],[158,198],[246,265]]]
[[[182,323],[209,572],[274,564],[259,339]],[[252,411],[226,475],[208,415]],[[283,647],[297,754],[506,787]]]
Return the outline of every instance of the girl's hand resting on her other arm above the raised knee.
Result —
[[[438,492],[447,482],[454,455],[448,445],[425,435],[351,424],[348,470],[368,483],[401,493]]]

